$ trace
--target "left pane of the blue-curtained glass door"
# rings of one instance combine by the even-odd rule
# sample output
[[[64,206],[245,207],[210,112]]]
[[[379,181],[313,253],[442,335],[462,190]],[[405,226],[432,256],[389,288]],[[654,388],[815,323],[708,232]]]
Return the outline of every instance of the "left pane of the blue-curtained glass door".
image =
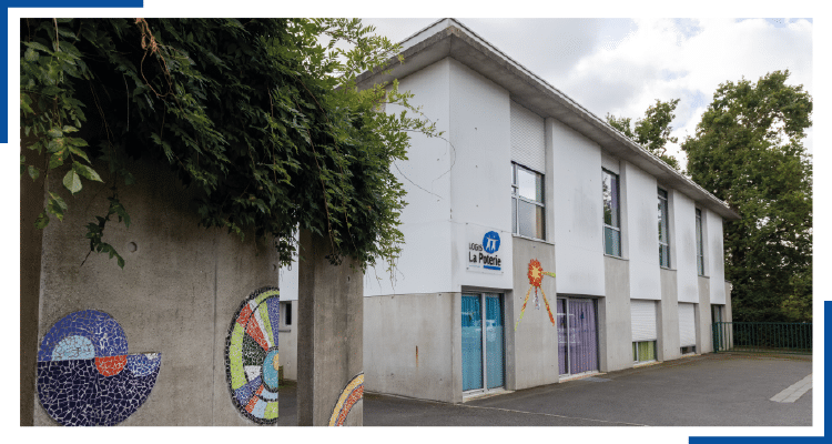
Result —
[[[483,389],[483,304],[463,295],[463,391]]]

